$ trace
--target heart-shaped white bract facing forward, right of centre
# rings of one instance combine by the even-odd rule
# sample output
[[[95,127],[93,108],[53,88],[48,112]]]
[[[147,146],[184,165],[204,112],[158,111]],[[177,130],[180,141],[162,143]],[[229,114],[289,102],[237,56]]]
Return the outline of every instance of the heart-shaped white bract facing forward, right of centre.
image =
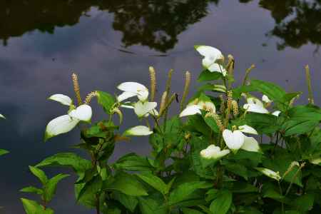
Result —
[[[226,146],[230,148],[233,152],[238,151],[244,143],[244,134],[240,131],[230,131],[225,129],[223,131],[223,139],[225,141]]]

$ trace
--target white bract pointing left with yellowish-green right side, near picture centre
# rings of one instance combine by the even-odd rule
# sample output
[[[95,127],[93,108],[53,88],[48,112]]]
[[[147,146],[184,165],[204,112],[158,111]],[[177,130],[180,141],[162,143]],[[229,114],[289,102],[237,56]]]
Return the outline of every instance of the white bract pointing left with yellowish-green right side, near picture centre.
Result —
[[[200,110],[208,111],[215,113],[216,108],[214,103],[209,101],[198,101],[198,103],[195,103],[195,101],[192,101],[188,104],[188,106],[180,113],[180,117],[183,116],[190,116],[194,114],[201,114]]]

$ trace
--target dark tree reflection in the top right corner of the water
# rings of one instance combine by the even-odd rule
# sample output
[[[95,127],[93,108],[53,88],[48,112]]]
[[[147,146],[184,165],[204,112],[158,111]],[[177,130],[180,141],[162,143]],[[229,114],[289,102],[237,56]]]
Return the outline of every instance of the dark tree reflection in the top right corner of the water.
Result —
[[[320,46],[321,0],[260,0],[260,6],[275,19],[275,28],[269,36],[282,40],[277,44],[278,49],[300,48],[309,42]]]

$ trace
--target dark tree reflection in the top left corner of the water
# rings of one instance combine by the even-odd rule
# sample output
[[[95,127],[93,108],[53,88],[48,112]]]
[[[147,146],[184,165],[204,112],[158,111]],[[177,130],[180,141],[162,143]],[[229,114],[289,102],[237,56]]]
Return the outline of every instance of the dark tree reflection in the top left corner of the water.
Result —
[[[76,2],[76,1],[75,1]],[[56,26],[74,25],[91,1],[0,1],[0,39],[6,41],[39,29],[52,34]]]

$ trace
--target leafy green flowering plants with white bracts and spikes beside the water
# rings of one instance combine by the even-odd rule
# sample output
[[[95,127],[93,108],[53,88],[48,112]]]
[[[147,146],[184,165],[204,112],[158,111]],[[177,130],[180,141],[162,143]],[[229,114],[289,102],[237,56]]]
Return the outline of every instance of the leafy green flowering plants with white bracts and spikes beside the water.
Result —
[[[179,99],[171,91],[173,70],[169,71],[159,104],[153,67],[149,68],[149,88],[121,83],[118,96],[93,91],[85,101],[74,74],[78,106],[68,96],[51,96],[69,110],[49,122],[45,140],[83,123],[81,143],[75,147],[86,151],[91,160],[76,153],[58,153],[31,169],[72,168],[78,175],[76,201],[96,213],[320,213],[321,110],[314,104],[309,68],[309,102],[295,106],[300,93],[251,80],[254,66],[245,72],[243,83],[234,86],[233,56],[225,60],[210,46],[195,49],[203,56],[198,81],[205,84],[189,101],[188,71]],[[258,93],[261,99],[254,96]],[[93,98],[108,120],[91,123]],[[171,116],[168,110],[175,100],[180,111]],[[138,126],[121,133],[124,108],[133,109]],[[149,136],[151,156],[129,153],[108,163],[115,143],[130,136]],[[46,198],[46,191],[37,191]],[[22,202],[27,214],[37,204]],[[48,212],[44,204],[36,207]]]

